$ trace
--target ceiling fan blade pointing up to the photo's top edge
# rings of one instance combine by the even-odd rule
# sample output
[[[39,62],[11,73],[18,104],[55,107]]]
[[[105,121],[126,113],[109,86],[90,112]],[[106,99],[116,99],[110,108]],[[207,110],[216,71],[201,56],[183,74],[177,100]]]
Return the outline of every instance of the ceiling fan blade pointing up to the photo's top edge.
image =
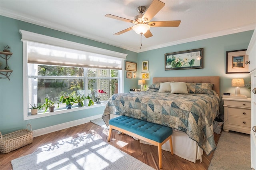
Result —
[[[160,0],[153,0],[145,14],[142,16],[142,19],[147,18],[147,22],[149,22],[164,7],[164,5],[164,2],[161,2]]]

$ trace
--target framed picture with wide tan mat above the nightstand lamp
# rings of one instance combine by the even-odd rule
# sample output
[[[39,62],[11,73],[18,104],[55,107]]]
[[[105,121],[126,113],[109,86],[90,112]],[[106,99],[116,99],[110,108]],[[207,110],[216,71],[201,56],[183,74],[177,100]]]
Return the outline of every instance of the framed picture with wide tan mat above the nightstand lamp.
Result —
[[[235,51],[226,51],[226,74],[230,73],[249,73],[248,72],[248,55],[246,49]]]

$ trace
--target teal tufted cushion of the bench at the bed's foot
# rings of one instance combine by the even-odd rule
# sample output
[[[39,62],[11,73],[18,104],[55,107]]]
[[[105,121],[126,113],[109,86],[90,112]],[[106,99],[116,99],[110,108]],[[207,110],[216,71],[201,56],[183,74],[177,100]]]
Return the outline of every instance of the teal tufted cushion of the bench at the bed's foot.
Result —
[[[162,143],[166,138],[172,135],[172,128],[170,127],[165,127],[126,116],[110,119],[109,125],[128,130],[159,143]]]

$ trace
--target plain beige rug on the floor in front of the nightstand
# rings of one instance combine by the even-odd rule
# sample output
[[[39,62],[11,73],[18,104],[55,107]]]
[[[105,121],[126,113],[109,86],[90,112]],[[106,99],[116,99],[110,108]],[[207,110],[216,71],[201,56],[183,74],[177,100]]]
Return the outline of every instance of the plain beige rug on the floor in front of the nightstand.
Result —
[[[208,170],[249,170],[250,134],[222,131]]]

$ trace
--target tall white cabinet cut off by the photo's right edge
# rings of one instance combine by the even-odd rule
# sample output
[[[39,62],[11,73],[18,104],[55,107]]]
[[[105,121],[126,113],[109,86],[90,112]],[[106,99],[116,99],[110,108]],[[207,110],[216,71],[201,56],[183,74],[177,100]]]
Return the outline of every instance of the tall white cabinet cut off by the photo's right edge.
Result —
[[[256,170],[256,28],[246,54],[249,55],[251,74],[251,169]]]

